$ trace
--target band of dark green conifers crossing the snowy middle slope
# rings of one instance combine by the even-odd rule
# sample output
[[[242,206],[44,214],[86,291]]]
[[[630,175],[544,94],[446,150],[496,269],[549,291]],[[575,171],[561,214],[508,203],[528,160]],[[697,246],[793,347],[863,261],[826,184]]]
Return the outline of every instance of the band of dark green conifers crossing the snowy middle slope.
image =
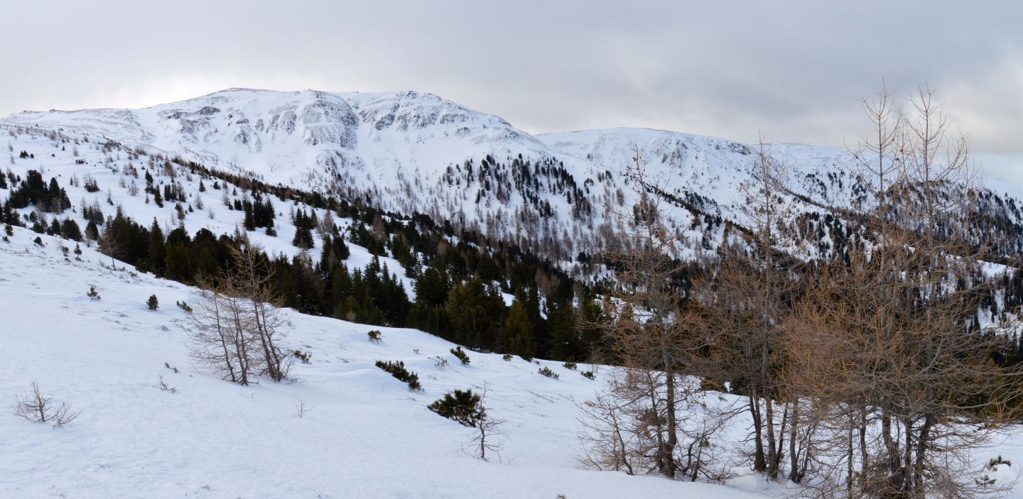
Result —
[[[224,195],[232,190],[230,177],[216,177],[194,164],[187,168],[201,177],[208,175],[207,180],[218,179],[212,183],[213,189]],[[161,199],[186,198],[183,184],[172,180],[161,188],[151,169],[143,170],[147,194]],[[319,250],[319,258],[314,261],[304,252],[291,258],[262,251],[256,255],[260,268],[271,276],[268,284],[282,306],[361,323],[417,327],[472,349],[529,359],[584,360],[598,348],[595,329],[578,326],[598,315],[592,289],[514,244],[456,231],[450,223],[438,224],[425,215],[400,218],[318,194],[285,192],[249,182],[246,185],[252,190],[243,199],[225,202],[227,208],[243,212],[241,227],[232,234],[214,234],[208,229],[188,233],[183,224],[166,228],[155,219],[143,224],[120,206],[115,206],[113,215],[104,215],[98,202],[84,200],[79,213],[86,221],[83,231],[74,217],[62,221],[54,217],[50,223],[42,210],[27,218],[15,212],[17,208],[50,205],[57,215],[66,211],[70,202],[59,201],[66,199],[66,194],[55,178],[48,187],[37,171],[30,171],[25,179],[11,175],[10,180],[18,196],[4,201],[0,222],[29,225],[39,233],[76,241],[94,241],[104,255],[138,271],[190,285],[219,285],[224,270],[231,268],[231,252],[244,245],[248,233],[262,229],[268,235],[275,234],[270,231],[275,227],[277,205],[270,197],[291,195],[291,199],[281,200],[292,206],[291,220],[296,227],[293,244]],[[201,185],[205,190],[207,184],[201,180]],[[237,186],[233,192],[237,195]],[[12,198],[23,195],[24,203],[11,205]],[[312,206],[298,199],[319,203],[326,216],[318,219]],[[113,206],[113,200],[109,203]],[[342,228],[335,223],[336,216],[350,223]],[[370,262],[363,267],[351,266],[349,243],[365,247],[372,256]],[[415,279],[415,300],[410,300],[409,289],[394,269],[382,263],[380,257],[389,255],[404,267],[405,277]],[[515,297],[510,303],[505,301],[508,296]]]

